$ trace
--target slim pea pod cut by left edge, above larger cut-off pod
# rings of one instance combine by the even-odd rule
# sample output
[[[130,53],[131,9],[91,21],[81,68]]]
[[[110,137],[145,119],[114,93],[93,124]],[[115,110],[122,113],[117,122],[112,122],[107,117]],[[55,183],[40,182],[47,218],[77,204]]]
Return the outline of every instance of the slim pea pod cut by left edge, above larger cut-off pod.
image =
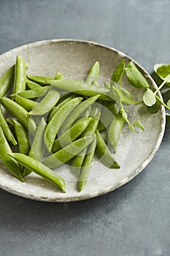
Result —
[[[2,110],[1,110],[1,105],[0,105],[0,124],[1,124],[1,129],[3,129],[4,135],[7,138],[7,140],[10,143],[12,143],[13,145],[17,145],[17,141],[15,140],[14,136],[12,135],[12,132],[9,129],[7,121],[4,118],[4,114],[3,114]]]

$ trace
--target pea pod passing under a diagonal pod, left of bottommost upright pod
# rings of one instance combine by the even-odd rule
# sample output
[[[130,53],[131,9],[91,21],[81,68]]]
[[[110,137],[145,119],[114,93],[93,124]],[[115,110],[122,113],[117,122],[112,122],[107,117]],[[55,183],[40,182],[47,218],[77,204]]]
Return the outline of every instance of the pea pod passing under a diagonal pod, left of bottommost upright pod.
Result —
[[[94,110],[91,111],[92,116],[93,116],[93,112],[94,112]],[[82,132],[81,138],[88,136],[88,135],[93,135],[96,132],[100,116],[101,116],[101,109],[98,108],[98,113],[96,114],[96,117],[93,117],[90,120],[88,127],[85,129],[84,132]],[[87,152],[87,148],[85,148],[85,150],[83,150],[80,155],[77,155],[76,157],[74,157],[71,160],[72,171],[77,175],[80,174],[82,164],[85,160],[86,152]]]

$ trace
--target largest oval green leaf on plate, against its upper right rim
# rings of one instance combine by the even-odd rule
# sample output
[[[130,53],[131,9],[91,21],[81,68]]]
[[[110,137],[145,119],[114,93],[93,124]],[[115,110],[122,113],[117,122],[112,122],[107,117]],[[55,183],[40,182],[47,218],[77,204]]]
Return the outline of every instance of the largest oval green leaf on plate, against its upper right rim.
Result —
[[[129,62],[128,66],[125,68],[125,72],[129,83],[137,88],[149,88],[149,84],[144,76],[136,68],[134,62]]]

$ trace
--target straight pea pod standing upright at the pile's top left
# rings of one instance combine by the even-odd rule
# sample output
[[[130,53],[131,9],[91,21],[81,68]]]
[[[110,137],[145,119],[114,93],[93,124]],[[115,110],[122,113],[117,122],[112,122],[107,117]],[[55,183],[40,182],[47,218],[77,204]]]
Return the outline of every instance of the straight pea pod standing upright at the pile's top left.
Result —
[[[15,78],[13,94],[18,94],[20,91],[26,90],[26,62],[23,57],[17,56],[15,63]]]

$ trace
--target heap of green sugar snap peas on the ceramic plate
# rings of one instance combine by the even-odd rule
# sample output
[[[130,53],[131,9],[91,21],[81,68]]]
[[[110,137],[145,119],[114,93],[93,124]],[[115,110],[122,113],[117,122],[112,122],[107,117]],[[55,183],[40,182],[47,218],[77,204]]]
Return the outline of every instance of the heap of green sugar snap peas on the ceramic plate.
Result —
[[[104,165],[120,168],[112,151],[125,121],[130,123],[123,100],[117,105],[112,94],[112,83],[98,83],[98,61],[85,79],[66,79],[61,72],[55,78],[26,75],[27,68],[17,56],[0,78],[0,158],[7,170],[20,181],[34,172],[66,192],[65,181],[53,171],[63,163],[77,174],[79,191],[88,181],[95,152]],[[9,88],[13,91],[6,97]],[[5,118],[2,106],[11,118]],[[102,137],[106,128],[111,149]]]

